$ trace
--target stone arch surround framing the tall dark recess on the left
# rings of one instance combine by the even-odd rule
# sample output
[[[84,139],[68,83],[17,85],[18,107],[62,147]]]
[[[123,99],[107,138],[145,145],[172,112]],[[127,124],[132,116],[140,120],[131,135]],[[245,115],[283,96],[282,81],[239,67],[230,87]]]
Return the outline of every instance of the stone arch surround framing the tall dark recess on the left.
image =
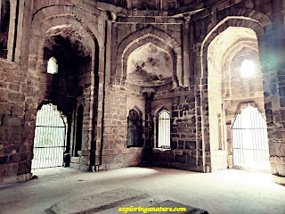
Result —
[[[34,14],[29,46],[28,67],[30,69],[36,69],[41,73],[45,73],[47,59],[49,58],[48,55],[52,53],[45,51],[46,38],[48,37],[55,37],[52,40],[50,39],[51,42],[48,41],[51,46],[53,46],[53,41],[61,41],[61,44],[69,44],[71,49],[74,46],[79,47],[79,49],[74,49],[76,50],[75,55],[78,55],[78,57],[83,57],[82,59],[85,59],[88,55],[90,56],[90,69],[88,67],[87,70],[82,72],[82,78],[77,79],[78,84],[82,87],[78,88],[77,95],[72,93],[75,97],[74,103],[77,103],[76,97],[81,96],[82,93],[88,94],[88,104],[90,105],[88,109],[90,111],[84,114],[84,120],[89,124],[85,127],[86,130],[84,132],[84,139],[86,139],[85,152],[87,152],[84,153],[84,156],[88,159],[86,161],[87,165],[91,166],[94,165],[94,153],[89,154],[88,152],[94,152],[95,148],[95,122],[98,119],[98,105],[101,103],[98,101],[98,91],[100,90],[99,81],[103,81],[99,78],[99,72],[101,68],[103,68],[103,61],[99,61],[99,55],[102,53],[102,49],[100,49],[97,40],[97,37],[101,38],[101,36],[98,29],[94,27],[94,23],[86,19],[83,13],[80,12],[81,9],[72,7],[72,12],[69,9],[70,6],[53,5],[42,8]],[[48,14],[48,16],[46,14]],[[82,20],[85,22],[83,23]],[[72,30],[70,31],[69,29]],[[70,36],[70,32],[73,32],[74,35]],[[61,37],[61,35],[65,35],[65,37]],[[80,43],[82,45],[80,45]],[[60,43],[56,42],[56,44]],[[85,53],[85,48],[88,49],[88,55],[81,55],[81,53]],[[61,48],[61,50],[64,50],[64,48]],[[61,59],[58,59],[58,62],[59,75],[61,76]],[[84,63],[82,63],[82,65],[84,65]],[[71,121],[69,122],[72,123]],[[98,123],[100,123],[100,121]]]

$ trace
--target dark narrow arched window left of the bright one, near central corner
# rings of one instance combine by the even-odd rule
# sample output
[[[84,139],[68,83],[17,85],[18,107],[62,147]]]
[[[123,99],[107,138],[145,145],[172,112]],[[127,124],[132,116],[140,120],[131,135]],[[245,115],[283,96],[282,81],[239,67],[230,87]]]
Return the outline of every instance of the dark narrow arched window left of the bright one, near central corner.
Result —
[[[131,110],[127,117],[127,147],[142,146],[142,126],[139,114]]]

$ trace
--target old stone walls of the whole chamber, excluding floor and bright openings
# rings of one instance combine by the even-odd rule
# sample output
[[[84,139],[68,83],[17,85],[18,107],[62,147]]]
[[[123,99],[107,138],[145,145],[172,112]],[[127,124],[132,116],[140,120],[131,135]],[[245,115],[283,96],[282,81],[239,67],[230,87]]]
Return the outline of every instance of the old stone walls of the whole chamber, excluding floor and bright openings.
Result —
[[[30,179],[45,102],[67,117],[67,166],[200,172],[232,168],[232,120],[240,103],[256,103],[273,180],[285,183],[284,1],[5,0],[0,9],[0,183]],[[244,55],[255,78],[240,78]],[[57,74],[47,73],[51,57]],[[132,110],[142,147],[127,146]],[[158,148],[163,110],[167,149]]]

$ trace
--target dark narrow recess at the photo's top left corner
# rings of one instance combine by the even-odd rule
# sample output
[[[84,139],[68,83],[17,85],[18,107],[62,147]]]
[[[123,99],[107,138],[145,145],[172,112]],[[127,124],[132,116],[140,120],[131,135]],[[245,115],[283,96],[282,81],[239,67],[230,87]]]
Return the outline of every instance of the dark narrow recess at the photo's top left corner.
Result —
[[[0,57],[7,58],[10,23],[10,1],[0,1]]]

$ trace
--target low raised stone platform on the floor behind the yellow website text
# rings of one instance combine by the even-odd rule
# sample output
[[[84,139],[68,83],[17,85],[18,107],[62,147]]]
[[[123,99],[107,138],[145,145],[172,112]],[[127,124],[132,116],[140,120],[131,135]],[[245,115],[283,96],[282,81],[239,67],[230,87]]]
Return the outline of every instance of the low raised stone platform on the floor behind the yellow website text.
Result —
[[[138,208],[135,211],[135,208]],[[141,209],[140,209],[141,208]],[[161,208],[161,209],[160,209]],[[184,211],[162,211],[162,208],[185,208]],[[76,200],[62,201],[54,204],[48,213],[56,214],[91,214],[91,213],[191,213],[208,214],[208,211],[185,206],[182,203],[159,202],[148,193],[129,188],[119,188],[103,193],[79,197]],[[160,210],[159,210],[160,209]]]

